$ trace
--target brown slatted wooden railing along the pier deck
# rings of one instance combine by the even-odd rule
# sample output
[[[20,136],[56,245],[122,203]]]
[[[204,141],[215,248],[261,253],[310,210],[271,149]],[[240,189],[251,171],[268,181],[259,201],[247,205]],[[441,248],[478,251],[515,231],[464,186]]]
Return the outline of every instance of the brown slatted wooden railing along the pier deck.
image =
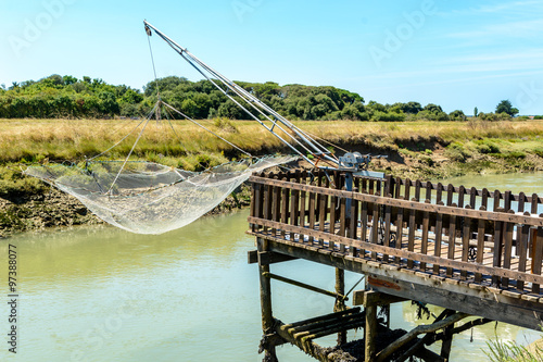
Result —
[[[543,200],[536,195],[392,177],[355,178],[346,191],[338,172],[262,173],[250,180],[253,234],[540,294]]]

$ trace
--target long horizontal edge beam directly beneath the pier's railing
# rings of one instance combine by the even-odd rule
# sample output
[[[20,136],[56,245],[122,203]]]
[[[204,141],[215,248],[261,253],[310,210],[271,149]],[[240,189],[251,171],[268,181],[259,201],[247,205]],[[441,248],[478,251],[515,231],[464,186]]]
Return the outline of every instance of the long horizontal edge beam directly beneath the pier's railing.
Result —
[[[372,285],[374,290],[541,330],[543,303],[538,301],[532,302],[500,291],[494,292],[490,288],[478,290],[467,284],[443,277],[434,278],[429,274],[406,273],[394,265],[361,260],[310,245],[287,240],[278,242],[270,238],[269,246],[272,251],[354,273],[372,275],[387,282],[379,286]]]

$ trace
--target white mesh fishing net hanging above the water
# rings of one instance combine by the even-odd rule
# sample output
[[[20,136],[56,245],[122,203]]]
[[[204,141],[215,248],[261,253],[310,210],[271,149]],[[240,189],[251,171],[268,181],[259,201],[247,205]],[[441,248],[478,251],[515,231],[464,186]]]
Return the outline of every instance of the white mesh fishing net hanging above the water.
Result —
[[[24,173],[76,197],[109,224],[137,234],[162,234],[213,210],[253,172],[295,159],[244,160],[199,173],[153,162],[123,161],[96,161],[85,168],[33,165]]]

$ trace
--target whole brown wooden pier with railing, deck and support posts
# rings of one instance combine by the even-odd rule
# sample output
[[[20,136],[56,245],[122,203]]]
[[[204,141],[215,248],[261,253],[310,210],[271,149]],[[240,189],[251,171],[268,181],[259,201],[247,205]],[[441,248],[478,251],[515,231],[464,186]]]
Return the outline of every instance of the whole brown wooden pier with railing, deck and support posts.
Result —
[[[491,321],[541,330],[543,320],[543,215],[538,195],[463,186],[354,178],[345,189],[340,172],[261,173],[253,185],[249,234],[257,250],[262,302],[262,351],[293,344],[320,361],[404,361],[418,355],[446,361],[454,334]],[[327,291],[275,275],[270,264],[294,259],[336,267]],[[344,271],[366,275],[366,286],[345,296]],[[333,313],[283,323],[273,314],[270,279],[329,295]],[[353,308],[346,305],[350,299]],[[388,323],[378,308],[414,300],[444,308],[433,324],[387,345]],[[356,305],[363,305],[361,310]],[[460,327],[455,323],[478,316]],[[364,355],[341,350],[349,329],[364,327]],[[338,334],[338,347],[315,339]],[[419,338],[420,335],[424,337]],[[425,348],[441,340],[441,354]]]

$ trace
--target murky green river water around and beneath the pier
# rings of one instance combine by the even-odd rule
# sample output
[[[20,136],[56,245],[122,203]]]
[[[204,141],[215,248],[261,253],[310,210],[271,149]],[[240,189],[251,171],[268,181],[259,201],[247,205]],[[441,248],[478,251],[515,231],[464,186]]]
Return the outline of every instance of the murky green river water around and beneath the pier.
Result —
[[[543,194],[540,177],[514,175],[507,186]],[[505,190],[488,186],[496,179],[451,182]],[[247,264],[247,252],[254,249],[253,238],[244,234],[247,216],[242,211],[205,217],[162,236],[98,226],[1,240],[0,361],[261,361],[258,282],[256,265]],[[7,336],[9,244],[17,248],[16,354],[8,351]],[[333,289],[331,267],[292,261],[272,269]],[[358,278],[348,273],[346,288]],[[326,296],[275,280],[273,290],[274,314],[283,322],[332,309],[333,300]],[[418,323],[427,321],[417,321],[409,303],[393,305],[392,327],[411,329]],[[470,332],[457,336],[452,361],[485,360],[481,349],[496,333],[522,344],[540,335],[510,325],[494,327],[476,328],[472,342]],[[331,346],[333,339],[317,342]],[[281,362],[312,361],[290,346],[278,351]]]

